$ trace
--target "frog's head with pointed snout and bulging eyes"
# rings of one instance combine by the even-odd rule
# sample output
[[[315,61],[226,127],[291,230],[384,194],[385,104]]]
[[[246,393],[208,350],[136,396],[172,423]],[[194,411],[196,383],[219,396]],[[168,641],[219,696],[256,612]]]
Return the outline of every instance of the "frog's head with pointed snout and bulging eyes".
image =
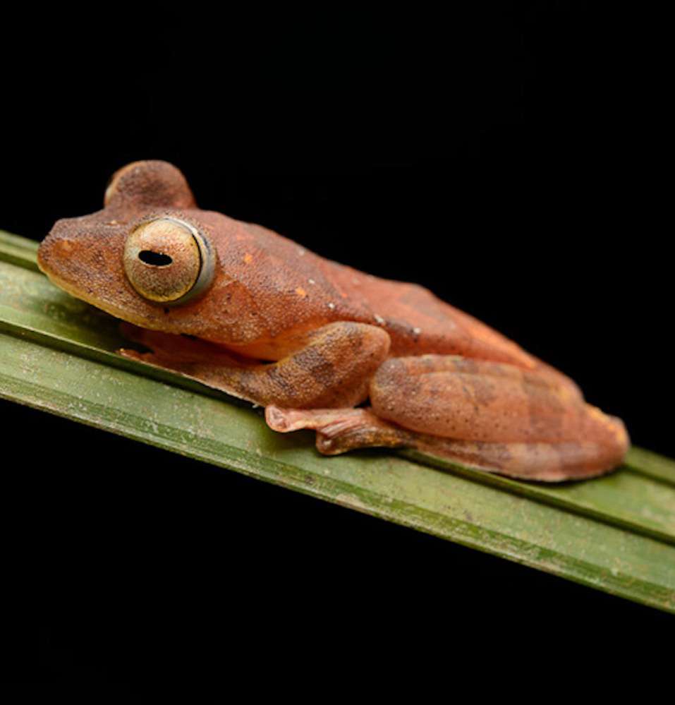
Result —
[[[174,325],[196,320],[195,307],[214,284],[217,255],[201,213],[176,167],[133,162],[112,177],[103,210],[56,222],[37,263],[78,299],[167,330],[170,311]]]

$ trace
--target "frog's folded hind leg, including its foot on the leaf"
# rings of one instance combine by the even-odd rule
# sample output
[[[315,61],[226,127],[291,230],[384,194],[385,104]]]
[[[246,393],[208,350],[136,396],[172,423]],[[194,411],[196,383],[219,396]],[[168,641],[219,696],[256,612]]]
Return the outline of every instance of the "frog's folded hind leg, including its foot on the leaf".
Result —
[[[314,428],[317,448],[407,446],[520,478],[602,474],[628,448],[623,423],[586,404],[547,368],[522,370],[458,356],[392,358],[370,384],[372,409],[267,408],[276,430]]]

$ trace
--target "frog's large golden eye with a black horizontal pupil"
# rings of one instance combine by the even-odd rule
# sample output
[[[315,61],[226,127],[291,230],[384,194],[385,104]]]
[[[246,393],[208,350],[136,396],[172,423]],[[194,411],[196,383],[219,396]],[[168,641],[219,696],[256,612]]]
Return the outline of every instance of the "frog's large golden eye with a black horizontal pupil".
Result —
[[[124,246],[124,271],[148,301],[176,306],[198,296],[213,279],[209,241],[183,220],[159,217],[137,225]]]

